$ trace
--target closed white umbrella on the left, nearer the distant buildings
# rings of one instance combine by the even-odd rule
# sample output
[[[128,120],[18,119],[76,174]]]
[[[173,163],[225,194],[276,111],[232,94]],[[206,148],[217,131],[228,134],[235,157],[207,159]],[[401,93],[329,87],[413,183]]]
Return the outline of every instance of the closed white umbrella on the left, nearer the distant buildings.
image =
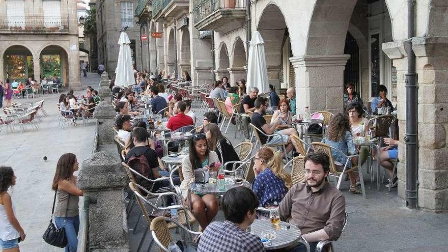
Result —
[[[122,32],[118,40],[120,51],[118,53],[117,68],[115,69],[115,86],[128,87],[135,85],[130,43],[128,35]]]

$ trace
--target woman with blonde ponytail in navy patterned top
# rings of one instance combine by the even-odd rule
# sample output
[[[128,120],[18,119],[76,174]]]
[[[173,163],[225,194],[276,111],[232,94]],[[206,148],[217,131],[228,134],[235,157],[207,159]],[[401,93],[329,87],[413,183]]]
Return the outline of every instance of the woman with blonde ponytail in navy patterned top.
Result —
[[[291,188],[291,175],[283,170],[282,153],[270,147],[260,148],[254,157],[254,173],[252,189],[260,206],[278,206]]]

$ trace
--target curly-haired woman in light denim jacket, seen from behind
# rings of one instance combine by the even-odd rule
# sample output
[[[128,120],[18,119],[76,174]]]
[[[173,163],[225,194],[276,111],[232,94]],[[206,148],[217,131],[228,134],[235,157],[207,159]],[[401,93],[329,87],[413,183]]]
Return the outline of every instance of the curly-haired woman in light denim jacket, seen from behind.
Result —
[[[347,155],[356,154],[356,148],[351,133],[350,119],[347,115],[339,113],[331,118],[328,123],[328,129],[325,131],[325,137],[322,139],[322,143],[335,147]],[[332,154],[336,169],[342,172],[347,158],[337,151],[333,151]],[[350,169],[352,167],[352,162],[349,161],[347,167]],[[360,191],[356,187],[356,173],[349,172],[348,177],[350,178],[350,192],[359,193]]]

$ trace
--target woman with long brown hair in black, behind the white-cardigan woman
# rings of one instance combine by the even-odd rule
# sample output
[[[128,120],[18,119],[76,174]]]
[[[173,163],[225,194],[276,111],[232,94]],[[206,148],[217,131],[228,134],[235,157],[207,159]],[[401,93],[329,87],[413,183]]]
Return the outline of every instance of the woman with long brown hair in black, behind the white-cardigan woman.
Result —
[[[209,123],[204,127],[205,136],[210,150],[218,154],[219,161],[225,164],[228,161],[239,161],[238,154],[233,149],[229,139],[222,135],[219,126],[215,123]],[[225,167],[231,170],[232,165]]]

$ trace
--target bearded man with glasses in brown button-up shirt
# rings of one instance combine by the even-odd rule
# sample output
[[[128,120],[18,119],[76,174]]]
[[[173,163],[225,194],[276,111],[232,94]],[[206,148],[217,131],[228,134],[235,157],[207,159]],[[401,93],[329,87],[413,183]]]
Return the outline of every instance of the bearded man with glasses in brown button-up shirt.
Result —
[[[305,157],[306,183],[295,184],[278,207],[280,218],[296,225],[311,251],[320,240],[338,240],[345,221],[344,195],[327,181],[330,160],[323,152]],[[306,251],[303,245],[291,252]]]

